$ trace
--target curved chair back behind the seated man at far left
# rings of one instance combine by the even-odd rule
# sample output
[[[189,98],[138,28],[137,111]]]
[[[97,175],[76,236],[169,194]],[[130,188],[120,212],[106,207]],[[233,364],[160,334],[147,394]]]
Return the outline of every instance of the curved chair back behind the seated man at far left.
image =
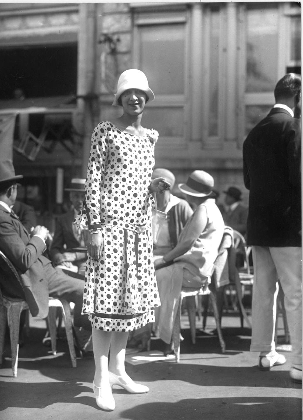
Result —
[[[19,273],[2,251],[0,251],[0,289],[2,294],[25,299]]]

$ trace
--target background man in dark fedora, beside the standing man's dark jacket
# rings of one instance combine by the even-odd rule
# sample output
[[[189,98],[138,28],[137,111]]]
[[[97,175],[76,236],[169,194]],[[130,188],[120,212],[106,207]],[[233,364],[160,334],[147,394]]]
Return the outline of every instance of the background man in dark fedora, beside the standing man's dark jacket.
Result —
[[[248,207],[241,203],[242,192],[237,187],[230,186],[224,194],[224,203],[227,206],[227,211],[223,213],[224,223],[245,236]]]

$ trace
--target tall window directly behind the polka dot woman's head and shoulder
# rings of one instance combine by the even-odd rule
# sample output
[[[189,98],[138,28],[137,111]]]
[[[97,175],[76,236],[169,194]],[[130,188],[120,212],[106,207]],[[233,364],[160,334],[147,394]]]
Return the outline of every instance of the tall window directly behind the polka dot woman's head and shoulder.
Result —
[[[134,14],[134,62],[148,77],[155,101],[145,108],[144,122],[158,130],[161,142],[185,147],[187,138],[187,14]]]

